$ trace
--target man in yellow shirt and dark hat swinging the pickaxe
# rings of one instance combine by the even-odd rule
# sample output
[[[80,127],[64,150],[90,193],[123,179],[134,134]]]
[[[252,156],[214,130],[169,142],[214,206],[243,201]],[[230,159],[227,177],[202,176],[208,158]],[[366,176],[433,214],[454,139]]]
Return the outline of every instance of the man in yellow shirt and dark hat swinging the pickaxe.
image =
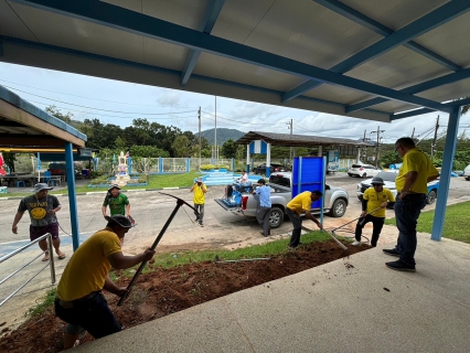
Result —
[[[65,350],[74,346],[85,330],[95,339],[121,330],[102,289],[119,297],[127,290],[116,286],[108,272],[111,266],[116,269],[129,268],[150,260],[154,255],[148,248],[136,256],[124,256],[121,244],[132,224],[124,215],[106,216],[106,228],[92,235],[74,253],[57,286],[55,314],[68,323],[64,335]]]

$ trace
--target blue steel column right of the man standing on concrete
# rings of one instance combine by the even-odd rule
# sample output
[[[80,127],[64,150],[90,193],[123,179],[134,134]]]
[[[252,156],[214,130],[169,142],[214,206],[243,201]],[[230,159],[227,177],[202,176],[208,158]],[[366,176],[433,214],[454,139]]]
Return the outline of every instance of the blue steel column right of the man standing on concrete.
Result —
[[[444,148],[442,170],[440,172],[439,191],[436,202],[435,217],[432,222],[432,240],[442,237],[444,222],[446,220],[447,197],[449,196],[450,172],[452,171],[453,156],[456,152],[457,133],[459,130],[460,107],[455,107],[449,115],[447,126],[446,146]]]

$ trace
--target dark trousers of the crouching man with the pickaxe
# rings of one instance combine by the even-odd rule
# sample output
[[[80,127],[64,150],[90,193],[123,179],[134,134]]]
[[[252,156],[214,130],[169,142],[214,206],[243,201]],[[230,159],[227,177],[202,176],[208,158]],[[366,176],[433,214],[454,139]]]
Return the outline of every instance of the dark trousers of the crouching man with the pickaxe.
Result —
[[[96,295],[86,301],[73,301],[73,308],[65,309],[54,301],[55,314],[63,321],[84,328],[95,339],[104,338],[121,330],[105,297]]]

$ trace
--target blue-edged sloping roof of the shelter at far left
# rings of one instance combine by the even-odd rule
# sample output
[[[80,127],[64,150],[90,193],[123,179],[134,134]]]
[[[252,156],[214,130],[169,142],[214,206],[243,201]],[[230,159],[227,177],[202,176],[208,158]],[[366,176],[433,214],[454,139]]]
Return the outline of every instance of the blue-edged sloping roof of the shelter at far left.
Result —
[[[85,147],[86,135],[0,86],[0,151],[64,151]]]

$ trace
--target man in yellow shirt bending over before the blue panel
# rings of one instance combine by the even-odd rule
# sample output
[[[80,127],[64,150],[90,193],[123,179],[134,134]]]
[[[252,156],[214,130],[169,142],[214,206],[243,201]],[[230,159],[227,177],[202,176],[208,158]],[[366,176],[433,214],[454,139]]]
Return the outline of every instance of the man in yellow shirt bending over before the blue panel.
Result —
[[[312,202],[320,200],[323,193],[319,190],[305,191],[290,200],[286,206],[286,213],[292,222],[293,231],[289,242],[289,248],[296,249],[300,245],[300,234],[302,232],[302,218],[300,214],[303,212],[306,217],[313,221],[320,229],[323,229],[321,223],[310,213]]]

